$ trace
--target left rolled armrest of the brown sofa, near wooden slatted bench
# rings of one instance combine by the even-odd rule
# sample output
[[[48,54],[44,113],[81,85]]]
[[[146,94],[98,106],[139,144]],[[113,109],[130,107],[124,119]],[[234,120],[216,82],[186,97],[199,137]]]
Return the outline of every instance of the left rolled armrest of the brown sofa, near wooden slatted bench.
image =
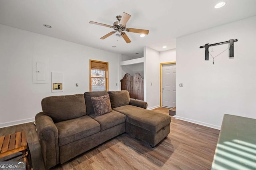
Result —
[[[40,112],[36,115],[36,130],[47,169],[60,163],[58,129],[52,118]]]

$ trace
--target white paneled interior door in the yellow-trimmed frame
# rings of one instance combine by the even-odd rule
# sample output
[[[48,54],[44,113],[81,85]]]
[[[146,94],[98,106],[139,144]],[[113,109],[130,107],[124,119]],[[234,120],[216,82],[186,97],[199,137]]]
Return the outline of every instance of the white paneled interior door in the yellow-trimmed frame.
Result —
[[[176,64],[162,65],[162,106],[176,106]]]

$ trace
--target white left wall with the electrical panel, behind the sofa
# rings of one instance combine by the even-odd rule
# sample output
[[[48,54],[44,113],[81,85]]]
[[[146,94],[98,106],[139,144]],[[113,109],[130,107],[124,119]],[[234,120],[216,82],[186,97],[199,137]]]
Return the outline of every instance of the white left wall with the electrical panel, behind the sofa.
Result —
[[[108,62],[109,90],[120,88],[121,55],[1,24],[0,37],[0,127],[33,121],[46,96],[89,91],[90,59]],[[52,71],[63,72],[64,92],[52,93],[51,80],[32,83],[32,56],[49,58],[49,78]]]

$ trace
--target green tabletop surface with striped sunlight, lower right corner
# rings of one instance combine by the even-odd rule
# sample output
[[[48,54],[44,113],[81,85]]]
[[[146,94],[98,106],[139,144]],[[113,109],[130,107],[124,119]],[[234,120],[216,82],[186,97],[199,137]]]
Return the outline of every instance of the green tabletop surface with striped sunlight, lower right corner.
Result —
[[[212,170],[256,170],[256,119],[224,115]]]

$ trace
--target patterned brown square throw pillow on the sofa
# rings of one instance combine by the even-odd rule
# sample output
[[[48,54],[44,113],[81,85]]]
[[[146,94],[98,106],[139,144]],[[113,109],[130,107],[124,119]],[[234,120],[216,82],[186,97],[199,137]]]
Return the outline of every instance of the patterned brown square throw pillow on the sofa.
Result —
[[[95,116],[104,115],[111,112],[109,94],[100,97],[91,97]]]

